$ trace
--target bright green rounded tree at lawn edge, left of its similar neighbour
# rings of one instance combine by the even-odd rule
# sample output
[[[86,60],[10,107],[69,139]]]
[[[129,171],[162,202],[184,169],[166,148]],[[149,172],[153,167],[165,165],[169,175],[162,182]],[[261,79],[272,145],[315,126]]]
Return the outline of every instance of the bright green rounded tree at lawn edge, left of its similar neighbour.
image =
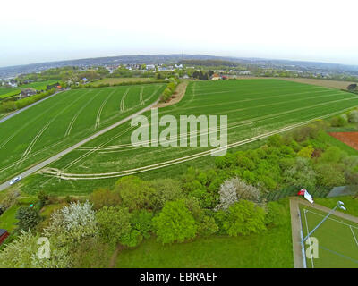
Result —
[[[194,238],[197,232],[195,220],[183,200],[166,202],[153,223],[162,243],[183,242]]]

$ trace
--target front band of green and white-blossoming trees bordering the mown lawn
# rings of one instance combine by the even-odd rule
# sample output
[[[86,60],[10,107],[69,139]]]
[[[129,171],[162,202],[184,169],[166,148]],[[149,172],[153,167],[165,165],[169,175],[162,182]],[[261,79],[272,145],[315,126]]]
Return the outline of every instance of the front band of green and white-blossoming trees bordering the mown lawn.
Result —
[[[39,214],[42,206],[21,207],[18,235],[0,250],[0,267],[86,266],[89,256],[103,256],[90,265],[107,266],[108,249],[136,247],[151,235],[164,244],[180,243],[215,233],[259,233],[279,225],[275,212],[282,214],[284,206],[264,204],[257,189],[238,178],[230,180],[218,186],[213,208],[184,189],[187,176],[179,181],[124,177],[113,189],[97,189],[89,200],[66,203],[45,220]],[[42,203],[48,199],[38,194]],[[47,259],[38,259],[40,237],[50,246]]]

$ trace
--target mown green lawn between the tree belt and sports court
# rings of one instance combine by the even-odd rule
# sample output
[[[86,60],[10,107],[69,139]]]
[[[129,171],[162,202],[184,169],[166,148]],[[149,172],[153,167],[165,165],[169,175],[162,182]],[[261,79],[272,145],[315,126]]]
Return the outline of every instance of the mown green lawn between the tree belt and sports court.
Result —
[[[138,248],[123,250],[116,267],[293,267],[288,200],[286,222],[260,234],[211,236],[191,242],[162,245],[153,237]]]

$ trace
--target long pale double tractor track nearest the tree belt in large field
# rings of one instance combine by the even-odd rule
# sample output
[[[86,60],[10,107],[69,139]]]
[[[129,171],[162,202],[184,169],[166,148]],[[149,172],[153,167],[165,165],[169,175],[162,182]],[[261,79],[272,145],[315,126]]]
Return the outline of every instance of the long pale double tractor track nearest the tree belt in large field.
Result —
[[[348,108],[347,108],[348,109]],[[237,141],[231,144],[228,144],[226,147],[227,149],[229,148],[233,148],[233,147],[239,147],[242,146],[244,144],[247,143],[251,143],[253,141],[256,141],[258,139],[265,139],[271,135],[277,134],[277,133],[281,133],[281,132],[285,132],[287,130],[292,130],[296,127],[300,127],[303,126],[305,124],[308,124],[310,122],[314,122],[318,119],[323,119],[326,117],[330,117],[333,116],[335,114],[339,114],[342,113],[343,111],[338,111],[332,114],[326,114],[326,115],[322,115],[319,117],[316,117],[314,119],[305,121],[305,122],[299,122],[299,123],[295,123],[292,124],[290,126],[286,126],[282,129],[279,130],[273,130],[273,131],[269,131],[267,133],[264,134],[260,134],[258,136],[255,136],[253,138],[250,139],[244,139],[241,141]],[[183,156],[183,157],[179,157],[173,160],[168,160],[165,162],[161,162],[158,164],[150,164],[147,166],[143,166],[143,167],[139,167],[139,168],[134,168],[134,169],[130,169],[130,170],[124,170],[124,171],[118,171],[118,172],[103,172],[103,173],[67,173],[67,172],[63,172],[61,170],[55,169],[55,168],[49,168],[49,169],[44,169],[42,170],[40,173],[46,175],[46,176],[53,176],[55,178],[58,179],[62,179],[62,180],[98,180],[98,179],[110,179],[110,178],[117,178],[117,177],[123,177],[123,176],[127,176],[127,175],[132,175],[132,174],[136,174],[136,173],[140,173],[140,172],[148,172],[151,170],[156,170],[159,168],[163,168],[163,167],[167,167],[170,165],[174,165],[174,164],[181,164],[181,163],[185,163],[197,158],[200,158],[202,156],[209,156],[212,152],[219,152],[222,149],[209,149],[197,154],[193,154],[193,155],[189,155],[189,156]]]

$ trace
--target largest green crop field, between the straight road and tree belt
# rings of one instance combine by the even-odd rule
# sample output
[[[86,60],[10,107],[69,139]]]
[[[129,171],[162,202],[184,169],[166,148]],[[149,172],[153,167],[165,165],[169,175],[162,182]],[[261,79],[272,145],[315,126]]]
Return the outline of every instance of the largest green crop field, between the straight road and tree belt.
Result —
[[[245,139],[264,137],[354,105],[358,97],[351,93],[285,80],[199,81],[191,82],[182,101],[160,109],[159,115],[227,115],[228,144],[237,148]],[[192,164],[193,159],[213,160],[208,156],[211,147],[132,147],[134,129],[128,122],[90,141],[51,164],[53,169],[46,174],[32,176],[27,189],[36,191],[41,186],[49,192],[84,194],[98,185],[113,184],[123,175],[157,172],[168,166],[179,171],[181,164]]]

